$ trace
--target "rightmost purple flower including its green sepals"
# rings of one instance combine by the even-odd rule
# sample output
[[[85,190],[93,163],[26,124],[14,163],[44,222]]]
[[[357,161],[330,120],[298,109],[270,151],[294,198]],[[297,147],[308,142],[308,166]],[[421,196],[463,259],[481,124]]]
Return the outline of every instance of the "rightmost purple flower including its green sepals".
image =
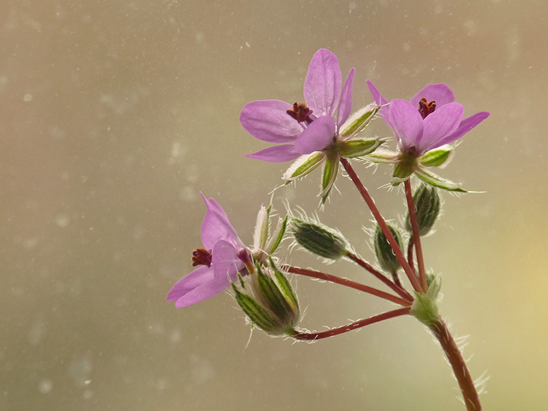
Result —
[[[443,164],[449,151],[427,153],[455,142],[489,116],[488,112],[479,112],[463,120],[464,107],[455,102],[453,92],[443,83],[429,84],[410,101],[394,99],[390,103],[373,83],[368,81],[367,85],[373,101],[382,106],[382,119],[397,138],[399,154],[393,161],[396,163],[393,184],[405,181],[414,172],[430,184],[436,182],[439,177],[424,167]]]

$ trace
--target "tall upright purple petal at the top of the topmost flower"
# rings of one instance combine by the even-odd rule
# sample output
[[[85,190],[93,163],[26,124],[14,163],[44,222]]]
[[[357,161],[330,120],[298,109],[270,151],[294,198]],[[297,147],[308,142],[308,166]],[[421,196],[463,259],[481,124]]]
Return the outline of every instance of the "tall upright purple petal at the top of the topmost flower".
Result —
[[[304,81],[304,100],[316,116],[334,114],[342,83],[336,56],[326,49],[316,51]]]

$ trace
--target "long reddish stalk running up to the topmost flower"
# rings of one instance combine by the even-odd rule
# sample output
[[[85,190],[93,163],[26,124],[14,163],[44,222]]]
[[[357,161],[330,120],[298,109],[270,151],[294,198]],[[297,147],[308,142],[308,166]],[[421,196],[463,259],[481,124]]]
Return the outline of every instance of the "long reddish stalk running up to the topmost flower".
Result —
[[[394,236],[392,235],[392,232],[390,232],[390,229],[388,229],[388,225],[386,225],[386,222],[382,218],[381,213],[379,212],[379,209],[377,206],[375,206],[375,201],[371,198],[369,195],[369,192],[367,192],[367,189],[360,181],[360,177],[356,174],[352,166],[350,165],[349,161],[346,158],[341,157],[340,163],[343,164],[343,167],[345,167],[345,170],[347,171],[350,179],[358,188],[358,191],[360,192],[360,195],[362,195],[364,201],[366,202],[367,206],[369,207],[369,210],[371,210],[371,214],[375,217],[375,220],[379,224],[379,227],[381,227],[382,232],[384,236],[386,236],[386,240],[388,240],[388,243],[390,244],[390,247],[392,247],[399,264],[401,264],[401,267],[403,268],[403,271],[406,272],[406,275],[413,286],[414,290],[416,292],[423,292],[423,288],[421,287],[421,284],[419,283],[419,279],[417,279],[414,271],[411,269],[411,266],[407,262],[405,256],[403,256],[403,252],[399,248],[398,243],[396,242]]]

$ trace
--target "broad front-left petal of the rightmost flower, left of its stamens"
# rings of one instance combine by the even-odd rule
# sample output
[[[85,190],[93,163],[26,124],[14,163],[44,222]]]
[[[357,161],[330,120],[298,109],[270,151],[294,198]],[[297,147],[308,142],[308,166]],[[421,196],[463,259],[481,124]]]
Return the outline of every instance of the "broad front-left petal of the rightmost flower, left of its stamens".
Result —
[[[387,117],[387,123],[396,134],[401,151],[408,153],[412,147],[417,148],[423,136],[423,118],[419,110],[409,101],[393,100],[390,101]]]

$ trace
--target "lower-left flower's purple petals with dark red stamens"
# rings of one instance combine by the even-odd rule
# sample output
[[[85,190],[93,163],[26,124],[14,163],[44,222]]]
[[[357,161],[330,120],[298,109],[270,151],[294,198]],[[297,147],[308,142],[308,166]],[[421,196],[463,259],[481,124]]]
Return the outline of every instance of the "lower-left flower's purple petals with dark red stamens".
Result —
[[[251,258],[236,230],[228,221],[227,214],[214,199],[206,199],[206,216],[201,225],[203,247],[192,252],[192,265],[198,266],[192,273],[180,279],[171,288],[167,301],[175,301],[182,308],[199,303],[226,290],[245,271]]]

